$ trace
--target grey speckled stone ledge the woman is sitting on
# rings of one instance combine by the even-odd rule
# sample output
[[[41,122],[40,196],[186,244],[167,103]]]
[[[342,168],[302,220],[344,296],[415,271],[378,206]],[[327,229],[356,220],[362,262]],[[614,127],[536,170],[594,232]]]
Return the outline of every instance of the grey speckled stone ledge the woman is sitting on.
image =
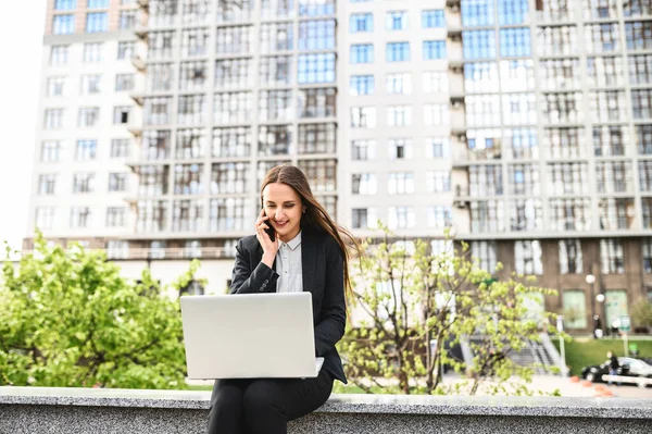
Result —
[[[209,392],[0,387],[0,433],[204,433]],[[652,400],[333,395],[291,433],[650,433]]]

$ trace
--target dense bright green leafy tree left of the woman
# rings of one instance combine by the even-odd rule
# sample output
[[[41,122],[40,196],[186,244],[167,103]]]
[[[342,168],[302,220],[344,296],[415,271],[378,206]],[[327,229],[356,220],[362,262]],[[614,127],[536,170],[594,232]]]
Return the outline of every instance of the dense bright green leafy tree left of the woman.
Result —
[[[47,247],[0,275],[0,385],[183,388],[179,303],[148,270],[125,280],[102,251]]]

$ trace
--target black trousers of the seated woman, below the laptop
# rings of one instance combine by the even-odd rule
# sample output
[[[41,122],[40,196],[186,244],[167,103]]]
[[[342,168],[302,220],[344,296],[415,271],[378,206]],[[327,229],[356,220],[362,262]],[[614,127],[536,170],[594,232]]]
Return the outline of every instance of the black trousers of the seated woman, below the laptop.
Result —
[[[315,379],[216,380],[209,434],[286,434],[288,421],[319,408],[333,390],[325,369]]]

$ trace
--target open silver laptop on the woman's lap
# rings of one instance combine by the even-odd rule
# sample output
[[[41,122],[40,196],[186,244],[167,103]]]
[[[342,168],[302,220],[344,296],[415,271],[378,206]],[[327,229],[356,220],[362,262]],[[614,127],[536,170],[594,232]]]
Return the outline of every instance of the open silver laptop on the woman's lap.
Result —
[[[188,377],[315,377],[312,294],[184,296]]]

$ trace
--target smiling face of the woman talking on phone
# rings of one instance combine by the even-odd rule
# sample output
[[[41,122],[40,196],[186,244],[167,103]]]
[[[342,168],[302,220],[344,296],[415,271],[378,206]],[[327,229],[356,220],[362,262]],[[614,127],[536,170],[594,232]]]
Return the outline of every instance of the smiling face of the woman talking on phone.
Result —
[[[267,184],[263,189],[263,209],[281,241],[290,241],[301,231],[301,197],[289,185]]]

